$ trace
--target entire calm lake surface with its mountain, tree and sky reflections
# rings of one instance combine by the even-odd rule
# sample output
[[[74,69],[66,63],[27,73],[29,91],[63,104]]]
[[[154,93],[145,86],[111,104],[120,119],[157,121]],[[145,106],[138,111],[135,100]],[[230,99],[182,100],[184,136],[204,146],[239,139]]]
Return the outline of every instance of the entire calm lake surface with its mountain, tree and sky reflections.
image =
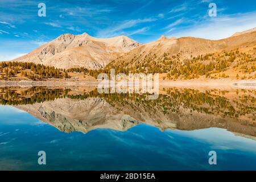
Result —
[[[2,89],[0,169],[256,170],[254,91],[234,92],[172,89],[145,101]],[[39,151],[46,165],[38,164]],[[217,165],[209,164],[210,151]]]

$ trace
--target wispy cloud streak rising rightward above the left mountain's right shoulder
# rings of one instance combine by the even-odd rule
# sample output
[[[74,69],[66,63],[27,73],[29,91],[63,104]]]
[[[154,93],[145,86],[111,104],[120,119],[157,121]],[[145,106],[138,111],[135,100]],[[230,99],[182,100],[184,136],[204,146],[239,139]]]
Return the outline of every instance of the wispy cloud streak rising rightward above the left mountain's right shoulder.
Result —
[[[141,23],[154,22],[156,20],[157,19],[155,19],[155,18],[125,20],[124,22],[118,24],[117,26],[109,27],[109,28],[106,28],[105,30],[99,31],[98,36],[104,37],[104,38],[109,38],[112,36],[121,35],[121,34],[124,34],[123,30],[135,27]]]

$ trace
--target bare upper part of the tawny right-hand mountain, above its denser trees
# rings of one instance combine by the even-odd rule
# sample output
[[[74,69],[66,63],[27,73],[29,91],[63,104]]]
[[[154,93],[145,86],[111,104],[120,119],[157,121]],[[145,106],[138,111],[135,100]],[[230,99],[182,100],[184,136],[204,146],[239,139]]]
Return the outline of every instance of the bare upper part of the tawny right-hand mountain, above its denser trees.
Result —
[[[126,68],[130,71],[147,72],[148,69],[146,68],[152,67],[158,73],[166,73],[168,70],[166,71],[165,69],[169,63],[164,62],[169,60],[175,60],[182,64],[185,59],[191,59],[192,57],[221,51],[231,51],[242,47],[251,47],[253,49],[255,45],[256,31],[253,30],[221,40],[193,37],[166,38],[162,36],[155,42],[143,44],[118,57],[118,59],[115,59],[108,65],[108,68]],[[170,63],[171,65],[174,64]],[[163,70],[160,70],[162,68]]]

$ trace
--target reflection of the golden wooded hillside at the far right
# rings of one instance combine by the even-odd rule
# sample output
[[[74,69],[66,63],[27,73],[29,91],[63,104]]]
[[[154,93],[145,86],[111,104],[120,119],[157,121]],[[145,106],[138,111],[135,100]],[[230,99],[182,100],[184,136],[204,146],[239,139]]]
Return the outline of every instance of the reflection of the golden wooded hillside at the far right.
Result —
[[[250,102],[229,100],[224,96],[212,94],[209,91],[199,92],[192,89],[168,89],[167,93],[172,98],[175,98],[178,104],[183,105],[185,109],[200,113],[238,117],[245,114],[253,114],[256,111],[255,98],[247,95],[243,95],[242,98],[250,97]]]

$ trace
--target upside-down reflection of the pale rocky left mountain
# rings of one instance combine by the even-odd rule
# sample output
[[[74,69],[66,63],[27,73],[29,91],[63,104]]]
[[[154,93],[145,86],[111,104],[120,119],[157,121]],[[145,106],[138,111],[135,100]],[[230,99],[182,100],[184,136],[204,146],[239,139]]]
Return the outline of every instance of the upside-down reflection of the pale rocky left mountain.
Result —
[[[125,131],[139,123],[136,119],[110,106],[102,98],[87,98],[82,101],[61,98],[16,107],[64,133],[73,131],[87,133],[98,128]]]

